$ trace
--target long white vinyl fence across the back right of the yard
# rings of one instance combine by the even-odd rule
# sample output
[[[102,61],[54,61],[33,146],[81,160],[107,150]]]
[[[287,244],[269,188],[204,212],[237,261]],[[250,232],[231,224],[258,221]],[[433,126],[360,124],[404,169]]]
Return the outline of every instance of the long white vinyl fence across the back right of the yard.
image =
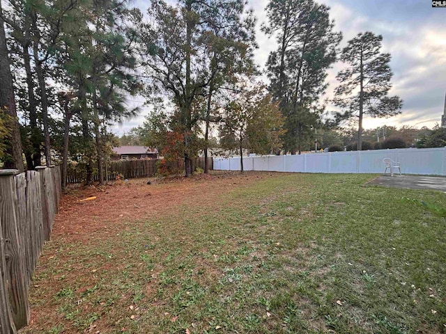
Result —
[[[398,161],[403,174],[446,175],[446,148],[404,148],[243,157],[243,170],[296,173],[384,173],[384,158]],[[240,157],[214,158],[214,169],[240,170]]]

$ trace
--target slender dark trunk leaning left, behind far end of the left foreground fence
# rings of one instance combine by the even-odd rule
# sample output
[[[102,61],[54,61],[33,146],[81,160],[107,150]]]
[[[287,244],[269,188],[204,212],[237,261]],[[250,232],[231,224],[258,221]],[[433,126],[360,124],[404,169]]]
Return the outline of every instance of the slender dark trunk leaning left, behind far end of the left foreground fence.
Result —
[[[47,166],[51,165],[51,143],[49,141],[48,128],[48,100],[45,84],[45,74],[43,73],[42,61],[39,59],[40,32],[37,26],[36,11],[31,11],[31,25],[33,28],[33,57],[34,66],[36,67],[37,81],[40,90],[40,106],[42,107],[43,134],[45,136],[45,159]]]

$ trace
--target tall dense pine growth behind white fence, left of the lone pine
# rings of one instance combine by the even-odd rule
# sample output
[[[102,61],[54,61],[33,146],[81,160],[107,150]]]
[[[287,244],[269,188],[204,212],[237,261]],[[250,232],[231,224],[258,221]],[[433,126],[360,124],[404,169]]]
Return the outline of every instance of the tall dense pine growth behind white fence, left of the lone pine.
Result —
[[[300,152],[319,127],[319,97],[325,92],[327,70],[336,60],[341,33],[334,32],[330,8],[313,0],[270,0],[268,25],[279,48],[267,63],[270,93],[286,118],[285,151]]]

